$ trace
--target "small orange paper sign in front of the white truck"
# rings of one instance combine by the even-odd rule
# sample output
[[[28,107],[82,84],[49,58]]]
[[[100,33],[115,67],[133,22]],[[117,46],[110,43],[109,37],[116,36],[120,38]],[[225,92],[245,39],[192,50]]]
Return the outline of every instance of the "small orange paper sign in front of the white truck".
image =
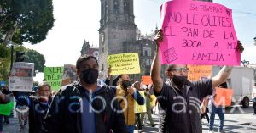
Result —
[[[216,88],[215,103],[218,106],[230,106],[232,100],[233,90],[230,88]]]

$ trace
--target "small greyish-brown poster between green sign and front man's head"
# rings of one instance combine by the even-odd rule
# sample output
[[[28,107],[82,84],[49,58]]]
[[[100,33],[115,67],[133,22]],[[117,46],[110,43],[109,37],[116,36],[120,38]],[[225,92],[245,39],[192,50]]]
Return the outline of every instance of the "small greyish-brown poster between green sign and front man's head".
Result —
[[[73,64],[64,64],[61,86],[71,84],[74,80],[77,80],[76,66]]]

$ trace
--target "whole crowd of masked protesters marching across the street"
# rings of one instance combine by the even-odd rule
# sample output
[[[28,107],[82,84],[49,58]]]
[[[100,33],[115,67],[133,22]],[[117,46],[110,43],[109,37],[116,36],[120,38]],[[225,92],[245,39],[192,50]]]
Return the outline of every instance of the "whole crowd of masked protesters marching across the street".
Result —
[[[195,107],[190,103],[203,101],[203,104],[207,104],[206,101],[210,101],[209,131],[212,131],[217,113],[223,118],[219,132],[224,132],[222,108],[214,106],[214,100],[210,97],[214,97],[214,88],[229,77],[232,67],[224,66],[218,75],[195,82],[188,80],[189,69],[186,64],[169,65],[165,72],[161,72],[158,48],[162,40],[163,33],[159,30],[155,36],[157,48],[151,66],[153,84],[143,85],[140,81],[131,80],[127,74],[118,75],[112,81],[111,68],[108,69],[107,78],[99,80],[96,58],[84,55],[76,63],[78,79],[62,86],[55,95],[51,94],[51,86],[43,82],[35,94],[4,90],[6,94],[0,93],[0,102],[9,103],[10,94],[15,97],[20,130],[28,124],[30,133],[133,133],[135,128],[142,131],[146,114],[150,125],[156,126],[152,119],[151,103],[157,103],[161,108],[159,132],[201,133],[200,118],[201,113],[206,112],[206,106],[202,106],[202,111],[199,111],[200,105]],[[242,51],[241,43],[238,43],[238,50]],[[162,79],[161,73],[166,74],[167,81]],[[153,96],[157,97],[157,101]],[[145,105],[146,111],[136,113],[135,103]],[[254,105],[253,103],[253,107]],[[3,115],[0,115],[0,120],[2,133]],[[9,123],[8,118],[4,122]]]

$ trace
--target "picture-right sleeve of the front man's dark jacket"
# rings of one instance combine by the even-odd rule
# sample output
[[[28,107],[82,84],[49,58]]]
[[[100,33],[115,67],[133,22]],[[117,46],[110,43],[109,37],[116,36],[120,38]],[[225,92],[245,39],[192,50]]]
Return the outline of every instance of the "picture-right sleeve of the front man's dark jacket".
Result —
[[[114,101],[114,116],[113,116],[113,127],[112,130],[114,133],[129,133],[126,125],[125,125],[125,116],[124,113],[121,111],[119,102],[117,100]]]

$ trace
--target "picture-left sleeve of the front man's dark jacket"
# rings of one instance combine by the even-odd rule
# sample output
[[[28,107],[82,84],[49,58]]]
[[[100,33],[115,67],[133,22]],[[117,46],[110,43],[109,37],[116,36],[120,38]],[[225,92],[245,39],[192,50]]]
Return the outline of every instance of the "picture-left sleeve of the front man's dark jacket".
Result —
[[[42,132],[47,133],[55,133],[61,132],[61,112],[63,110],[63,106],[61,106],[64,98],[61,97],[61,90],[55,95],[52,103],[49,105],[49,109],[44,118],[44,123],[42,126]]]

